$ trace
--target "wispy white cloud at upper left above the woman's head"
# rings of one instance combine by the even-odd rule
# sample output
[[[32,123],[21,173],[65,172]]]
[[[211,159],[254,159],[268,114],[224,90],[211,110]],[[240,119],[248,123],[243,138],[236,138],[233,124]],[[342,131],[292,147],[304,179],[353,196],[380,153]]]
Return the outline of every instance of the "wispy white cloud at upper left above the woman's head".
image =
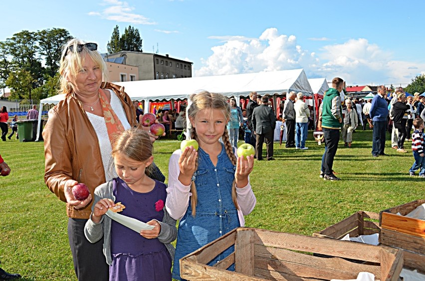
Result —
[[[117,21],[117,22],[128,22],[133,24],[145,24],[152,25],[157,24],[151,21],[149,18],[141,15],[132,13],[134,7],[129,6],[125,1],[118,0],[103,0],[102,6],[106,6],[103,11],[91,11],[88,14],[94,16],[100,16],[101,18]]]

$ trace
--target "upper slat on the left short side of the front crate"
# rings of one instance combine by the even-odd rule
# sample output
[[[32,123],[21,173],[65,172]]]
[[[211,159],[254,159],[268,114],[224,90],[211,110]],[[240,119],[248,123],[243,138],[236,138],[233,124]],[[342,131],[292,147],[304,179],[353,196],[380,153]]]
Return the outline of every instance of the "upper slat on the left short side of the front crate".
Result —
[[[232,230],[229,233],[224,234],[222,237],[219,237],[215,239],[213,242],[196,250],[195,252],[183,257],[181,260],[191,256],[191,257],[194,257],[198,263],[206,265],[209,262],[211,262],[213,258],[215,258],[224,250],[226,250],[231,245],[233,245],[235,239],[236,239],[236,230]]]

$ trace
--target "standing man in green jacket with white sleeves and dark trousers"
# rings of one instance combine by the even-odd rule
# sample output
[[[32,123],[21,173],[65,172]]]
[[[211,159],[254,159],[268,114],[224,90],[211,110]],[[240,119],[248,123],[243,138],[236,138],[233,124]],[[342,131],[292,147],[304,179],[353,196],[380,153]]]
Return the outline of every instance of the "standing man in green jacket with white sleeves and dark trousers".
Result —
[[[340,180],[333,174],[332,166],[338,149],[339,130],[342,127],[342,107],[340,92],[344,88],[344,80],[336,77],[332,80],[330,88],[323,97],[322,130],[327,149],[323,155],[325,174],[324,180]]]

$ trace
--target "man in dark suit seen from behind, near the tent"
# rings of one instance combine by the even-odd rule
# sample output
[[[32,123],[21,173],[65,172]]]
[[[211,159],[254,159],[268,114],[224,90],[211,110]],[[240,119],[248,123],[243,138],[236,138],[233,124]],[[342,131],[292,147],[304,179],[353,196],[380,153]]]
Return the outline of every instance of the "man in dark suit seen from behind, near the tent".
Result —
[[[276,116],[273,110],[268,107],[268,97],[261,98],[261,105],[254,108],[252,112],[252,130],[256,137],[255,156],[257,160],[262,160],[263,142],[266,142],[267,160],[273,158],[273,133],[276,127]]]

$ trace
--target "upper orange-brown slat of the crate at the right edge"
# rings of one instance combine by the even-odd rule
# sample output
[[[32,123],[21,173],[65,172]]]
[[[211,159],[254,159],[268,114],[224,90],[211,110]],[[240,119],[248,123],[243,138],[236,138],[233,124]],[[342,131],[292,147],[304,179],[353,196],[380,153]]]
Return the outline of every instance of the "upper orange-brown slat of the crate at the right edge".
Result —
[[[381,227],[425,238],[424,220],[384,212],[382,213]]]

